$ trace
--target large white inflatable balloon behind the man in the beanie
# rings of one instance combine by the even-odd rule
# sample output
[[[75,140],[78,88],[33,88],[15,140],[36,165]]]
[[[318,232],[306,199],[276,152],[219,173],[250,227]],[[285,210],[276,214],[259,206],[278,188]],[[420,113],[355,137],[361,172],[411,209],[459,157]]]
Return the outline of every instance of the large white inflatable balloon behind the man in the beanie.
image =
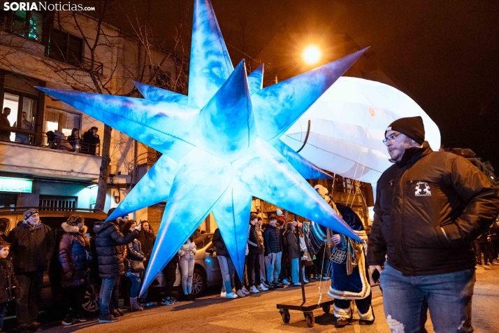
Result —
[[[398,118],[420,115],[426,141],[440,148],[440,130],[423,109],[394,87],[361,78],[341,77],[281,137],[310,162],[340,176],[376,183],[390,165],[382,140]]]

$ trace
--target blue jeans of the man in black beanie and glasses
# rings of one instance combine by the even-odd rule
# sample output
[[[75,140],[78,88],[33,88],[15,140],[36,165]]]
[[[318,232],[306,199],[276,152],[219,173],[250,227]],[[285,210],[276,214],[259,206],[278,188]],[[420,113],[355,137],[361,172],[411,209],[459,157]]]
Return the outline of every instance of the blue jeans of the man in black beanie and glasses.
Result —
[[[473,332],[471,299],[475,269],[403,276],[385,263],[379,281],[383,290],[384,314],[391,332],[426,332],[427,309],[435,332]]]

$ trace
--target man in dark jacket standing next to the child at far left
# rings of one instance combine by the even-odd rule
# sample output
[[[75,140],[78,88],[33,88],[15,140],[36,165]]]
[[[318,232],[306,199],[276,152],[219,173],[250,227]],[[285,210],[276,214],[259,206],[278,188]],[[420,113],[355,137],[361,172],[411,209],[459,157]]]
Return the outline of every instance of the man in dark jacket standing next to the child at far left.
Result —
[[[52,229],[44,225],[36,208],[24,211],[24,221],[8,234],[10,257],[13,258],[15,277],[19,284],[16,294],[18,330],[38,331],[38,306],[43,288],[43,271],[55,250]]]

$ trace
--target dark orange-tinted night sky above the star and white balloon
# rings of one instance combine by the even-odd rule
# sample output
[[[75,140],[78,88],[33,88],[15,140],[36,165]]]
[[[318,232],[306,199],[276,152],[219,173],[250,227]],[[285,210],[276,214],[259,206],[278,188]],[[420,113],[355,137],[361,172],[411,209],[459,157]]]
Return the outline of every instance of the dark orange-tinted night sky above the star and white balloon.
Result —
[[[282,27],[299,31],[304,39],[310,36],[310,42],[323,36],[321,43],[324,39],[327,43],[332,34],[348,34],[361,48],[370,46],[380,68],[396,78],[400,90],[440,127],[445,147],[471,148],[490,160],[499,174],[499,1],[212,0],[212,4],[234,65],[243,52],[247,58],[257,58]],[[186,18],[183,41],[189,45],[191,0],[128,0],[119,6],[139,22],[148,17],[155,43],[166,49],[173,48],[171,36]],[[126,20],[116,17],[109,20],[130,31]],[[324,62],[336,59],[326,58]]]

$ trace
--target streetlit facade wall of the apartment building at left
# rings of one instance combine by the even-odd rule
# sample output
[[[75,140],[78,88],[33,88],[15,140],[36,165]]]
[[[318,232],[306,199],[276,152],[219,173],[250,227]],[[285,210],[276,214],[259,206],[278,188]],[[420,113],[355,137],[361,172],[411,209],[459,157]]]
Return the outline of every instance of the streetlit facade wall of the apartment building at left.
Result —
[[[59,29],[60,26],[73,36],[86,38],[87,42],[92,45],[96,38],[96,20],[83,13],[76,15],[78,15],[81,31],[75,24],[71,12],[57,13],[54,17],[53,27]],[[175,62],[166,52],[152,49],[149,57],[137,38],[123,34],[120,29],[110,24],[102,24],[101,29],[106,35],[101,43],[105,45],[99,45],[96,48],[96,61],[103,64],[99,80],[107,83],[106,89],[108,91],[106,90],[106,93],[129,94],[133,90],[132,80],[140,80],[145,83],[150,81],[151,66],[168,73],[172,80],[175,79]],[[44,29],[44,34],[46,33],[48,30]],[[21,77],[41,80],[46,87],[95,91],[94,83],[85,71],[80,71],[70,64],[48,57],[45,55],[45,45],[42,43],[0,31],[0,55],[0,69],[6,73],[15,73]],[[90,50],[86,43],[83,45],[82,55],[90,57]],[[36,93],[36,90],[34,92]],[[136,96],[140,97],[140,94],[136,92]],[[78,114],[81,117],[80,136],[90,127],[97,127],[102,142],[104,129],[102,122],[82,114],[75,108],[52,97],[45,96],[42,101],[44,102],[44,120],[47,117],[48,108]],[[37,117],[41,116],[38,113]],[[37,131],[42,130],[37,129]],[[137,168],[136,157],[148,149],[150,148],[137,143],[129,136],[113,130],[109,173],[115,176],[112,179],[114,185],[110,186],[106,195],[106,211],[117,206],[120,199],[124,199],[129,192],[127,185],[132,183],[133,171]],[[96,182],[99,178],[100,164],[101,159],[98,156],[0,141],[0,172],[6,173],[6,176],[16,177],[19,176],[18,173],[22,173],[24,178],[26,178],[25,176],[35,178],[34,190],[31,194],[17,194],[18,206],[38,206],[40,195],[60,195],[78,197],[79,208],[91,208],[91,193],[96,191],[96,188],[91,189],[89,186],[92,186],[92,181]],[[149,166],[146,166],[146,171],[147,167]],[[143,173],[145,171],[141,174]],[[56,180],[64,178],[64,181],[74,180],[74,183],[50,183],[36,180],[36,177],[40,176]],[[87,185],[82,185],[80,183],[82,180],[87,181]],[[134,183],[136,181],[138,179],[135,179]],[[161,220],[161,214],[154,211],[154,208],[151,212],[154,219]],[[147,208],[133,215],[133,218],[137,220],[147,220]],[[157,223],[159,226],[159,222]]]

